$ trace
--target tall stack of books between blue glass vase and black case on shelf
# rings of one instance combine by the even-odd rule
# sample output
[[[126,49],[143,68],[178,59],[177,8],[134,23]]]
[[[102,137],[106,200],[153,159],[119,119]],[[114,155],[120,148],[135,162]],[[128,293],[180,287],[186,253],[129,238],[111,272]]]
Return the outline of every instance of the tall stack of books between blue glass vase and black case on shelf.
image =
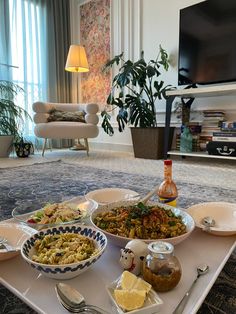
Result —
[[[213,133],[221,131],[222,122],[225,120],[225,113],[221,110],[204,110],[203,116],[199,146],[201,151],[206,151],[206,145],[212,140]]]

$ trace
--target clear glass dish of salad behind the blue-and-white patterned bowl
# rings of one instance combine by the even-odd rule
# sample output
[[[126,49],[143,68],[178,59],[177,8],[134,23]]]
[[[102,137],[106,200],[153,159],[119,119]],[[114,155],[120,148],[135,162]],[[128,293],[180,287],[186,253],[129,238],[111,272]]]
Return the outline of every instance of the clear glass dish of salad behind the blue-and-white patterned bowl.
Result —
[[[76,197],[58,203],[48,202],[37,210],[34,210],[34,204],[25,202],[13,209],[12,216],[15,220],[39,230],[57,225],[81,222],[97,206],[98,204],[95,201],[86,200],[84,197]]]

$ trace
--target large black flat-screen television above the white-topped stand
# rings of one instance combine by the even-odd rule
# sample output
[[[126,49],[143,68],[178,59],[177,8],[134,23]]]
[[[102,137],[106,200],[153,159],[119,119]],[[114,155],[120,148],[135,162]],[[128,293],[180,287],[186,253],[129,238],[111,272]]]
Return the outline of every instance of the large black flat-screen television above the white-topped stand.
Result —
[[[236,0],[180,10],[178,84],[236,81]]]

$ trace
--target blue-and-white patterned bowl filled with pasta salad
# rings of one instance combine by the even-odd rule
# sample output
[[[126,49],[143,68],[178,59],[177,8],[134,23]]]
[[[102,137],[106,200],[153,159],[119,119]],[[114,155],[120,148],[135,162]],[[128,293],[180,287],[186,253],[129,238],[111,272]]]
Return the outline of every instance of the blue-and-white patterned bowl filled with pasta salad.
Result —
[[[37,232],[21,247],[23,259],[44,276],[74,278],[89,269],[107,246],[105,234],[86,225],[57,226]]]

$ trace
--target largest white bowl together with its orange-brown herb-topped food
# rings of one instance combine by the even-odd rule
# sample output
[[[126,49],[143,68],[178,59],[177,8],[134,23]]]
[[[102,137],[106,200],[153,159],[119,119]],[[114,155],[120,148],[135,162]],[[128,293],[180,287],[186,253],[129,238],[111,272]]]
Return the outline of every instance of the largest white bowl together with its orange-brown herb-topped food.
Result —
[[[176,245],[195,228],[194,220],[187,212],[161,203],[115,202],[99,206],[90,219],[110,242],[121,247],[132,239],[146,243],[161,239]]]

